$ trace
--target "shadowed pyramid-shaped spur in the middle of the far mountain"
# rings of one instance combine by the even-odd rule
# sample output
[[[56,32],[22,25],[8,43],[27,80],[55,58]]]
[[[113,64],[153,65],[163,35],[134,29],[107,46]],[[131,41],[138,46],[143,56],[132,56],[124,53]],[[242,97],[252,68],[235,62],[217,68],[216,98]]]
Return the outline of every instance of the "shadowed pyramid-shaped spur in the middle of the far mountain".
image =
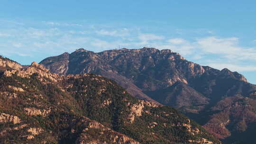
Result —
[[[180,81],[165,89],[147,92],[148,96],[158,102],[178,108],[185,113],[198,113],[209,101],[209,98]]]

